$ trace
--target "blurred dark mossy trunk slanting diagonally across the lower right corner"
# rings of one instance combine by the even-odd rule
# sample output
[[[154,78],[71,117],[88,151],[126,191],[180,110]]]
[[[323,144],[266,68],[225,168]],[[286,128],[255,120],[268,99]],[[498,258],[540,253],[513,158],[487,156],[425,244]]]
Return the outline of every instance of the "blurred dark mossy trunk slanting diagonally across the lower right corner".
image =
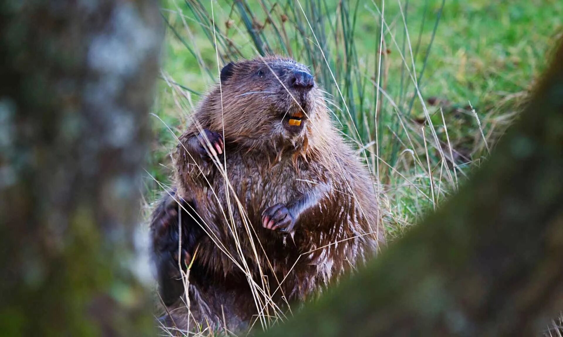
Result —
[[[533,336],[563,308],[563,44],[472,180],[265,336]]]

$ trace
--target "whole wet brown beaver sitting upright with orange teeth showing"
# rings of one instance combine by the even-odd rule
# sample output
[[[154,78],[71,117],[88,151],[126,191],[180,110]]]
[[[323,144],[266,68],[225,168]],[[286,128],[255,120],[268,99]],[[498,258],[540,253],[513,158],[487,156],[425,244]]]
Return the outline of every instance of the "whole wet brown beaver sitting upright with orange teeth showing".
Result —
[[[151,222],[164,324],[267,325],[385,243],[376,182],[306,66],[228,63],[179,139]]]

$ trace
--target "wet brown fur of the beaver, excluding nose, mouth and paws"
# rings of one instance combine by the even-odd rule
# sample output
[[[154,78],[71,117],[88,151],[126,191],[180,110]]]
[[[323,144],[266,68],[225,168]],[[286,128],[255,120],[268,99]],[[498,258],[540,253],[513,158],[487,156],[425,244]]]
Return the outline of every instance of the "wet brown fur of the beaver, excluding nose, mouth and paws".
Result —
[[[331,124],[318,85],[306,95],[290,90],[294,99],[280,84],[288,86],[287,76],[294,69],[309,71],[274,56],[236,62],[221,86],[199,104],[174,154],[177,194],[191,203],[200,225],[211,234],[198,237],[190,271],[191,317],[203,327],[244,329],[258,312],[247,277],[218,242],[239,265],[244,259],[252,279],[270,295],[275,293],[272,300],[282,310],[285,303],[309,298],[363,263],[385,243],[374,181]],[[246,94],[264,91],[272,93]],[[306,114],[303,130],[288,133],[281,118],[301,108]],[[228,183],[217,163],[186,145],[202,129],[224,134],[225,156],[219,159]],[[266,208],[311,194],[318,198],[293,233],[262,226]],[[195,247],[189,250],[191,256]],[[178,301],[170,309],[184,306]],[[272,304],[262,313],[272,315]],[[172,311],[172,318],[185,326],[187,310]]]

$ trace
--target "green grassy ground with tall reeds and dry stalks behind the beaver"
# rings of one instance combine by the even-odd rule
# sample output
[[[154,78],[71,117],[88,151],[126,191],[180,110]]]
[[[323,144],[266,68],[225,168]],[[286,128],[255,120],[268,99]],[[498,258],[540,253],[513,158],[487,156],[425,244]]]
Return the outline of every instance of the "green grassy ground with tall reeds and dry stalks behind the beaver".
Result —
[[[217,59],[278,53],[311,66],[327,90],[335,124],[381,182],[393,239],[455,190],[517,117],[561,32],[563,2],[166,0],[162,14],[149,201],[155,180],[169,184],[175,137],[216,83]]]

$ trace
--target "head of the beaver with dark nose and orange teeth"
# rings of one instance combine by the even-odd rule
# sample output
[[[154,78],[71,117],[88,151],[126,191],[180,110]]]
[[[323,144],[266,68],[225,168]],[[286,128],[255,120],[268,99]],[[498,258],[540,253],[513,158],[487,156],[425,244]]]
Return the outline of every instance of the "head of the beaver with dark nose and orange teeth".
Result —
[[[260,57],[230,62],[221,85],[203,102],[211,127],[248,148],[300,148],[316,122],[328,119],[323,94],[311,71],[289,58]],[[221,113],[222,111],[222,113]],[[218,113],[217,113],[218,112]]]

